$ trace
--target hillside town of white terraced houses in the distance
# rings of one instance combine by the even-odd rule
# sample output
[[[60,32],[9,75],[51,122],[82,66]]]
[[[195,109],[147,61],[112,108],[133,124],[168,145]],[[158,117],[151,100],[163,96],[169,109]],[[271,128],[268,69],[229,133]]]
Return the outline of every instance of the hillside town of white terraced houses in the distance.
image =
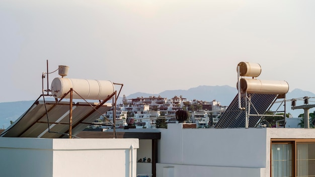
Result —
[[[175,113],[178,110],[189,112],[186,123],[195,123],[198,128],[212,128],[219,120],[227,106],[220,102],[191,100],[183,96],[171,99],[161,96],[138,97],[126,99],[116,106],[115,128],[166,128],[168,123],[176,123]],[[112,128],[114,123],[113,108],[95,121],[89,128]],[[100,125],[98,125],[100,124]]]

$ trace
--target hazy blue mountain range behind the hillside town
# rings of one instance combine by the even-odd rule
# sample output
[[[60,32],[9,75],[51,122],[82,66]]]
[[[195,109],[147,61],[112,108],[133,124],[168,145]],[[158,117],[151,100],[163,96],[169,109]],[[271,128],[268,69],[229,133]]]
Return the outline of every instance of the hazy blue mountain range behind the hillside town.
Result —
[[[208,86],[208,85],[200,85],[194,88],[189,88],[188,90],[168,90],[161,92],[160,94],[147,94],[147,93],[134,93],[129,96],[126,96],[127,99],[137,98],[137,97],[149,97],[149,96],[161,96],[163,98],[171,99],[175,96],[183,96],[187,100],[200,100],[211,102],[213,100],[218,101],[223,106],[229,106],[231,101],[237,95],[238,91],[235,87],[231,87],[228,85],[222,86]],[[293,90],[292,92],[288,92],[286,94],[286,99],[297,99],[303,97],[315,98],[315,94],[302,91],[298,88]],[[35,102],[33,101],[20,101],[20,102],[7,102],[0,103],[0,128],[7,128],[10,126],[10,121],[15,121],[18,119],[30,106]],[[122,95],[117,100],[117,103],[122,102]],[[311,100],[309,100],[311,102]],[[303,104],[302,101],[297,105]],[[310,103],[311,104],[311,103]],[[303,114],[303,110],[291,110],[291,103],[286,104],[286,112],[293,115],[293,117],[297,117],[299,114]],[[275,110],[273,110],[275,111]],[[310,109],[309,112],[313,112],[313,109]]]

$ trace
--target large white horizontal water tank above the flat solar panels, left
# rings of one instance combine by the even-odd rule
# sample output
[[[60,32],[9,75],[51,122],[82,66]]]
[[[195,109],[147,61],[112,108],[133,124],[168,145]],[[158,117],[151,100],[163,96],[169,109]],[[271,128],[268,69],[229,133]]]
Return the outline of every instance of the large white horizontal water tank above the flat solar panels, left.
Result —
[[[51,94],[55,98],[61,98],[73,89],[78,95],[88,100],[104,100],[115,92],[113,82],[109,80],[88,80],[56,77],[51,82]],[[82,99],[73,92],[73,99]],[[64,98],[70,98],[68,94]]]

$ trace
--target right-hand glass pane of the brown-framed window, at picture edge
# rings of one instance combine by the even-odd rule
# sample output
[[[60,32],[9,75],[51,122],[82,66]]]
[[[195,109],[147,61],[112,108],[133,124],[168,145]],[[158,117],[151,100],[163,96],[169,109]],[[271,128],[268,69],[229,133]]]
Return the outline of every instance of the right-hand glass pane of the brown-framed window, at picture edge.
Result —
[[[296,144],[297,176],[315,176],[315,143]]]

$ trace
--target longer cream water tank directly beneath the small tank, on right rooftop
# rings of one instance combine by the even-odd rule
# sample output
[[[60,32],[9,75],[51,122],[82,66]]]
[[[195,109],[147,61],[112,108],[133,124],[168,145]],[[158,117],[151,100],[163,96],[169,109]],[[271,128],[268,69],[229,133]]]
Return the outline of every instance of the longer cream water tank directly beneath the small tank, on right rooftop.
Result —
[[[288,93],[289,84],[284,80],[259,80],[241,78],[241,92],[250,94],[278,94]]]

